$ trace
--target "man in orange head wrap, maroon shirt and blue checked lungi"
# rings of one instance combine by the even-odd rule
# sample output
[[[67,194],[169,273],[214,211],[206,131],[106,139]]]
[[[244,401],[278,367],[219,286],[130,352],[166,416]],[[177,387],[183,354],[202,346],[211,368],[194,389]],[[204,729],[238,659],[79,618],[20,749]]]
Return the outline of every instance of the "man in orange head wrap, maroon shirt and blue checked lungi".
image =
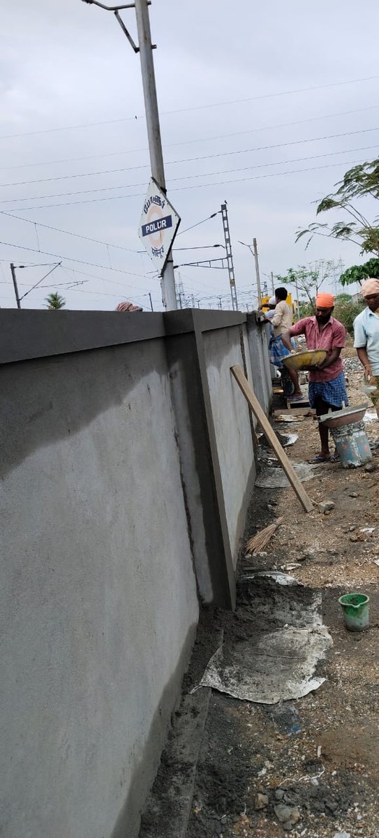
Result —
[[[345,326],[332,317],[335,297],[327,292],[316,297],[316,313],[306,317],[282,334],[283,344],[291,348],[291,338],[304,334],[308,349],[326,349],[322,364],[309,370],[309,404],[316,415],[322,416],[330,410],[339,411],[345,402],[349,404],[343,373],[341,349],[346,342]],[[329,448],[329,429],[319,424],[321,451],[314,457],[314,463],[326,463],[333,459]]]

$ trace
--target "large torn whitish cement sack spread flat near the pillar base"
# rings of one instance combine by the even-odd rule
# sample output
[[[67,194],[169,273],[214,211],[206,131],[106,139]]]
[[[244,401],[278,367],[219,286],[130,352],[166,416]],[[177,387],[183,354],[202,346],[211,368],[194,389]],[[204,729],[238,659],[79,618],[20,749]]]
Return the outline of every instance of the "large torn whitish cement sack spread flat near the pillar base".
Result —
[[[332,645],[324,626],[288,626],[253,635],[247,641],[223,644],[210,658],[199,686],[259,704],[302,698],[324,683],[314,671]]]

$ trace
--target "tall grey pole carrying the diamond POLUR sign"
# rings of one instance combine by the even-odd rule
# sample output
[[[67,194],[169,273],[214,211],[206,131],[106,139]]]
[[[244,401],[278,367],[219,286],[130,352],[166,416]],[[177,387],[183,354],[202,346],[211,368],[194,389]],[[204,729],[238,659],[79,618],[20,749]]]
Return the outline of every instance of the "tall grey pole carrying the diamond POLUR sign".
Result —
[[[132,49],[135,53],[139,52],[143,80],[143,99],[145,104],[146,125],[148,128],[148,150],[150,154],[151,173],[152,177],[158,184],[158,187],[162,189],[165,194],[166,181],[164,178],[164,155],[162,151],[157,89],[155,85],[153,62],[153,49],[155,49],[155,46],[151,42],[150,19],[148,16],[148,6],[150,5],[150,2],[149,0],[135,0],[134,3],[126,3],[122,6],[106,6],[104,3],[99,3],[98,0],[84,0],[84,3],[100,6],[100,8],[105,8],[107,12],[113,12],[117,18],[117,23],[119,23],[122,28],[122,32],[127,36],[127,40],[129,41],[129,44],[131,44]],[[119,12],[124,8],[135,8],[136,10],[138,46],[134,44],[131,34],[127,31],[127,27],[122,21],[122,18],[120,18]],[[175,292],[174,262],[171,251],[162,273],[161,288],[164,308],[178,308]]]

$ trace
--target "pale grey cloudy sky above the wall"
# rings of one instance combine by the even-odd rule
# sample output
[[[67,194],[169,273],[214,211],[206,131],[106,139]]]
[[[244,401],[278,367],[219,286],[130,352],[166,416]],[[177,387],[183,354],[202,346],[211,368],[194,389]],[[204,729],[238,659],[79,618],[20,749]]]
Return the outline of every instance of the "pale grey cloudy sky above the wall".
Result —
[[[134,11],[122,16],[137,38]],[[318,238],[304,251],[294,237],[314,200],[378,153],[376,0],[153,0],[150,16],[184,296],[229,305],[226,271],[186,265],[221,256],[220,213],[198,222],[225,200],[240,308],[256,290],[239,241],[257,237],[262,282],[322,258],[362,261],[352,244]],[[149,179],[138,56],[112,13],[80,0],[4,4],[1,29],[0,305],[15,304],[11,261],[28,266],[20,295],[61,261],[25,308],[49,291],[67,308],[149,308],[149,293],[162,308],[138,239]]]

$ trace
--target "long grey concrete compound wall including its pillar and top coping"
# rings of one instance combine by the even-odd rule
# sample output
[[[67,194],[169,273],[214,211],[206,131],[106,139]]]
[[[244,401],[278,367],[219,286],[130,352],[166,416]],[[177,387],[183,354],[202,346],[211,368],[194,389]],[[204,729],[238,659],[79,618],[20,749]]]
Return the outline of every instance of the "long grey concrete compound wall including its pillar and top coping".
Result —
[[[0,312],[4,838],[138,835],[199,600],[234,603],[248,340],[239,313]]]

